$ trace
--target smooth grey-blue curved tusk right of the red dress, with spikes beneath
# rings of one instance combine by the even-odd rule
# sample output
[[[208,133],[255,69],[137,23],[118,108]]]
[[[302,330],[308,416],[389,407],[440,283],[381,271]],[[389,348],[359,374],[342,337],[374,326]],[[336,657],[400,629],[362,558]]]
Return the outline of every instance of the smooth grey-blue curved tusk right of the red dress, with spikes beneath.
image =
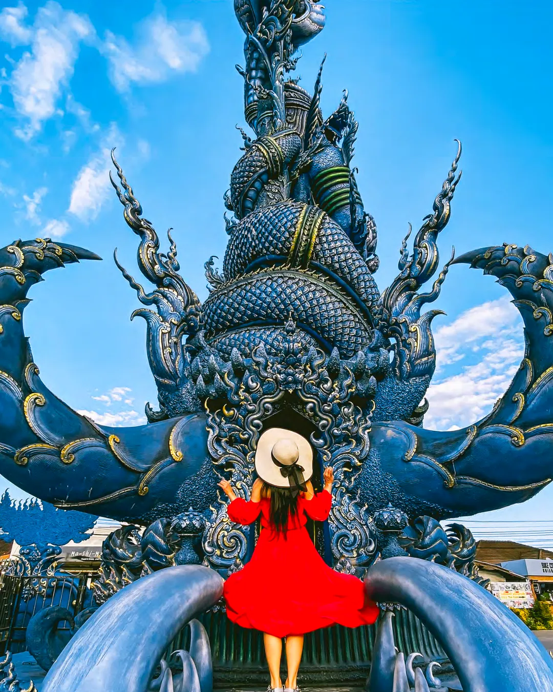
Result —
[[[503,603],[458,572],[424,560],[388,558],[368,570],[365,589],[373,601],[400,603],[424,623],[447,653],[465,692],[553,692],[553,659],[538,639]],[[377,634],[369,692],[409,689],[407,683],[395,684],[397,668],[405,672],[406,666],[398,655],[394,675],[390,615],[379,626],[383,631]],[[438,682],[432,666],[427,680]],[[382,682],[386,686],[379,686]],[[417,668],[415,690],[428,689]]]

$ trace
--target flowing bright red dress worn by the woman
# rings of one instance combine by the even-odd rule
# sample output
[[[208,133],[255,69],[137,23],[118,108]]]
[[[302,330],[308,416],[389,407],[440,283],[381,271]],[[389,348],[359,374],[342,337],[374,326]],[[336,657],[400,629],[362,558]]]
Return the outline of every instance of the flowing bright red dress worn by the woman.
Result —
[[[223,595],[230,620],[286,637],[335,623],[369,625],[377,619],[378,607],[365,598],[363,582],[331,570],[309,538],[307,517],[324,521],[331,504],[328,491],[311,500],[299,497],[297,516],[290,515],[285,537],[270,523],[270,500],[236,498],[229,504],[232,521],[252,524],[261,513],[262,527],[251,560],[225,581]]]

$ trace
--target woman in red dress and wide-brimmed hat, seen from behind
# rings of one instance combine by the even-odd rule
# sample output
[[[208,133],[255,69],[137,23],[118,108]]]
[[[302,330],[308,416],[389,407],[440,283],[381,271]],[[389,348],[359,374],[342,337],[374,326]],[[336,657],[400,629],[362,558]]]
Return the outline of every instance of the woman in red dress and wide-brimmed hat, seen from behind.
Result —
[[[332,504],[332,468],[324,470],[324,490],[315,494],[310,477],[313,453],[301,435],[270,428],[256,450],[252,499],[238,498],[228,481],[219,483],[231,502],[229,518],[243,525],[261,515],[261,534],[242,570],[225,581],[227,616],[241,627],[261,630],[269,664],[269,690],[283,692],[280,677],[285,638],[288,677],[284,692],[297,690],[303,635],[339,623],[373,623],[378,608],[364,595],[356,576],[331,570],[306,529],[307,518],[324,521]]]

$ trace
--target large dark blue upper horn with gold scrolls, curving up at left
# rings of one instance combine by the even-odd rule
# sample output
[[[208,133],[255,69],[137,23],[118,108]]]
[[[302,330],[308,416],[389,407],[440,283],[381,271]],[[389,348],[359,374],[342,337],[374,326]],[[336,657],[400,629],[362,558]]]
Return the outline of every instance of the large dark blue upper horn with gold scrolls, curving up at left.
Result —
[[[128,521],[178,513],[182,492],[187,506],[199,505],[193,495],[205,493],[194,475],[209,468],[203,414],[103,428],[39,378],[24,334],[28,290],[44,272],[83,259],[100,257],[50,239],[0,249],[0,473],[57,507]]]

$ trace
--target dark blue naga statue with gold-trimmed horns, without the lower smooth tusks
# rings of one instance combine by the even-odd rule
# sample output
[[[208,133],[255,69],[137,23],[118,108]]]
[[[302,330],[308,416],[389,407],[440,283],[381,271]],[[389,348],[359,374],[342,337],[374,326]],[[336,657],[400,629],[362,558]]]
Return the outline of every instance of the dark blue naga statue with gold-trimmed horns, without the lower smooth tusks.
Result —
[[[400,513],[402,526],[423,516],[436,523],[523,502],[551,482],[553,254],[498,245],[451,256],[438,272],[438,239],[460,180],[458,144],[413,245],[409,235],[402,243],[397,277],[379,290],[377,228],[352,165],[357,120],[348,93],[325,117],[323,66],[312,91],[292,76],[299,48],[324,28],[324,8],[234,0],[234,10],[245,34],[238,71],[252,136],[242,131],[224,196],[229,241],[221,271],[213,257],[205,264],[205,302],[180,275],[170,234],[162,252],[113,158],[113,187],[151,286],[115,262],[142,304],[133,317],[147,322],[158,405],[147,405],[144,426],[110,428],[45,387],[24,334],[28,291],[50,269],[100,258],[47,238],[16,240],[0,250],[0,472],[56,507],[142,526],[190,508],[201,516],[205,564],[225,574],[247,560],[256,536],[229,522],[216,481],[231,478],[248,498],[261,432],[290,428],[310,439],[319,471],[330,465],[337,480],[317,546],[330,564],[359,570],[386,534],[377,513]],[[440,311],[423,309],[452,264],[479,268],[512,294],[526,350],[489,415],[439,432],[422,421]],[[397,554],[418,545],[413,531]]]

